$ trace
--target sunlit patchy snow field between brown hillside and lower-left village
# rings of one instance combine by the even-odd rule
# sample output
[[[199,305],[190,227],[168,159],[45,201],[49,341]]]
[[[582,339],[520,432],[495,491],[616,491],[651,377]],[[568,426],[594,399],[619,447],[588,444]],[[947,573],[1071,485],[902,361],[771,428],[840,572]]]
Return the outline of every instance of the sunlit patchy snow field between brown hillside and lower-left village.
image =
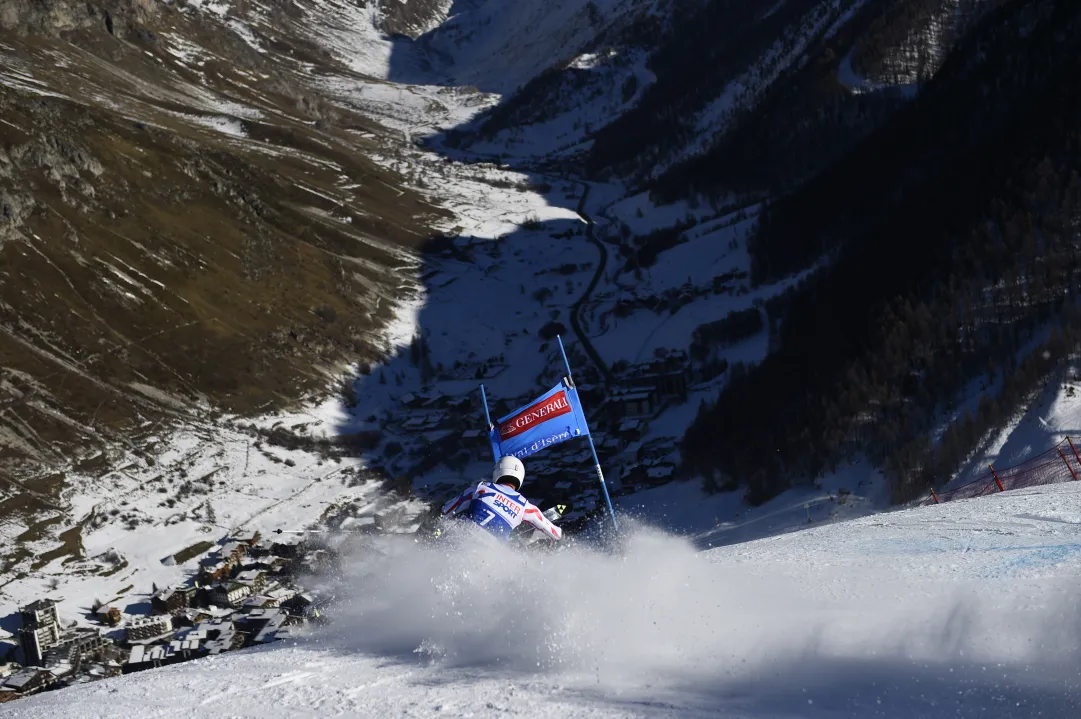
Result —
[[[329,415],[329,410],[312,412],[267,417],[261,424],[307,424],[318,432],[324,425],[317,415]],[[58,540],[46,535],[24,542],[32,555],[13,568],[12,576],[16,571],[21,576],[0,586],[0,616],[45,596],[57,601],[65,623],[97,626],[89,618],[94,599],[145,614],[155,585],[169,586],[196,573],[203,555],[183,564],[172,556],[198,543],[216,545],[239,529],[265,536],[277,529],[305,529],[328,509],[348,503],[366,507],[362,515],[393,504],[379,482],[349,481],[350,472],[363,470],[360,460],[323,462],[315,453],[261,443],[225,423],[213,428],[213,436],[209,428],[181,428],[162,438],[159,452],[152,466],[131,462],[102,477],[72,478],[66,512],[56,512],[56,519],[62,528],[82,527],[83,557],[72,564],[63,555],[31,569],[36,557],[55,549]],[[184,492],[185,485],[191,490]],[[137,524],[129,527],[128,517]],[[25,523],[10,521],[0,527],[0,541],[14,542],[26,530]]]

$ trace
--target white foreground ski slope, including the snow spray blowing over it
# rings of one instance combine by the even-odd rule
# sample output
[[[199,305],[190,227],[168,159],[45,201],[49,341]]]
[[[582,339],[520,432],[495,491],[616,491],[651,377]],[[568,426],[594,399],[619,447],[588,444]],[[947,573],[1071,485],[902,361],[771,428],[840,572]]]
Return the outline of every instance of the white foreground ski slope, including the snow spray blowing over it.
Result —
[[[5,707],[19,717],[1067,717],[1081,487],[695,552],[471,537],[358,549],[330,628]]]

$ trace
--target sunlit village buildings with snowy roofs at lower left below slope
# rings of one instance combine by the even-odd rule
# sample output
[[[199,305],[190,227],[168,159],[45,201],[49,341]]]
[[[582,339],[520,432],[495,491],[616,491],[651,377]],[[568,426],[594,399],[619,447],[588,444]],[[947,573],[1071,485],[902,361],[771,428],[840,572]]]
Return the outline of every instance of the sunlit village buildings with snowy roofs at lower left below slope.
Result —
[[[61,616],[56,602],[42,597],[19,608],[21,662],[14,650],[0,662],[0,703],[286,639],[318,622],[328,599],[305,590],[301,577],[335,561],[332,549],[303,534],[271,540],[246,532],[205,552],[187,583],[154,588],[149,605],[121,611],[94,600],[84,618],[97,626]]]

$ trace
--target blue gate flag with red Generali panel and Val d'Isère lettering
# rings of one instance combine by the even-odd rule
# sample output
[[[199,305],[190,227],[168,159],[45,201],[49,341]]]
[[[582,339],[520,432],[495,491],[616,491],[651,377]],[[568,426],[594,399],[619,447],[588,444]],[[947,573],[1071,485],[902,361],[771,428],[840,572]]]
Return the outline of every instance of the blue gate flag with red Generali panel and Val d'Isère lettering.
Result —
[[[529,404],[497,420],[489,441],[496,457],[521,460],[546,447],[588,435],[578,390],[564,378]]]

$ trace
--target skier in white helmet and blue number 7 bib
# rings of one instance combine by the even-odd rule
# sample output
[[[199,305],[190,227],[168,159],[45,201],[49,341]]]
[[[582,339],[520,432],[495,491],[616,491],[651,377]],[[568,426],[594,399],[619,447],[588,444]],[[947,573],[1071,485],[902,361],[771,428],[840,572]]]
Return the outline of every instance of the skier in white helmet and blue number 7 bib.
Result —
[[[478,527],[510,538],[516,527],[526,521],[552,540],[563,536],[563,530],[556,527],[542,514],[536,505],[519,493],[525,479],[525,467],[517,457],[502,457],[495,463],[491,482],[479,482],[476,487],[443,505],[443,516],[465,512],[463,519]]]

